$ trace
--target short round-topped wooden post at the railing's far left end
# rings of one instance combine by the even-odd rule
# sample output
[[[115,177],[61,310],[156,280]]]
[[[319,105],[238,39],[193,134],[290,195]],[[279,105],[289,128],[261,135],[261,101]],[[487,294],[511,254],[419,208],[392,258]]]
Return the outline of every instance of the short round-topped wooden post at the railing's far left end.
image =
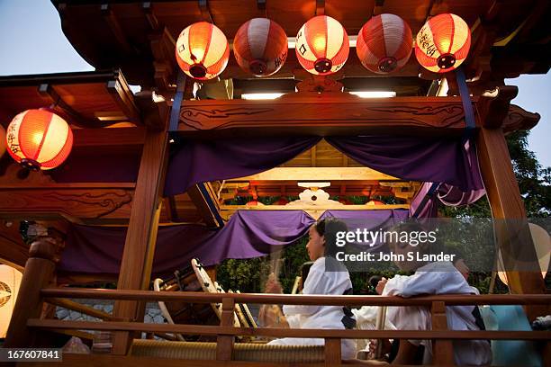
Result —
[[[41,317],[41,289],[54,281],[57,248],[55,240],[51,238],[41,238],[32,243],[4,347],[34,346],[36,334],[27,327],[27,320]]]

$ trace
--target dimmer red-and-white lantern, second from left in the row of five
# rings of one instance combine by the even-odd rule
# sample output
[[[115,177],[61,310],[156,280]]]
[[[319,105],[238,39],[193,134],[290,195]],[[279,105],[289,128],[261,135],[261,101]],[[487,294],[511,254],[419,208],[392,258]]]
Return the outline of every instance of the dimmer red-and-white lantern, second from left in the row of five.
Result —
[[[233,39],[233,54],[239,67],[254,76],[276,73],[287,58],[287,35],[267,18],[243,23]]]

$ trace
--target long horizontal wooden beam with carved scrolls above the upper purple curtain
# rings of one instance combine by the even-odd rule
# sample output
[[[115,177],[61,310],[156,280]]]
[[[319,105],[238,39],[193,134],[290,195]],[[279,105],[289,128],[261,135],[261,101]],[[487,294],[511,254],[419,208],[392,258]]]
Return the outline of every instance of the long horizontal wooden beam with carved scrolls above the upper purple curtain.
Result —
[[[230,104],[184,107],[180,122],[191,130],[221,130],[248,127],[293,127],[298,125],[456,128],[465,125],[461,103],[275,103],[232,108]],[[185,129],[184,130],[190,130]]]

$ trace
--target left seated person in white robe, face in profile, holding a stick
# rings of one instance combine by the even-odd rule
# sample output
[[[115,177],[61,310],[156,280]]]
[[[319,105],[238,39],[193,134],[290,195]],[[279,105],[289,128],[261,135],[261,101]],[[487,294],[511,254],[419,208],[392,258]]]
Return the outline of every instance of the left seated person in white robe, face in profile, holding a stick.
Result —
[[[328,249],[335,245],[336,233],[346,231],[347,226],[337,219],[322,219],[312,225],[309,230],[310,240],[306,245],[308,255],[314,262],[306,280],[303,294],[348,294],[352,290],[352,282],[347,268],[329,255]],[[281,293],[281,285],[275,277],[266,284],[266,291]],[[346,312],[346,313],[345,313]],[[283,308],[286,322],[294,328],[329,328],[344,329],[354,322],[351,314],[339,306],[303,306],[285,305]],[[321,338],[285,337],[272,340],[269,345],[324,345]],[[342,358],[355,357],[354,342],[342,340]]]

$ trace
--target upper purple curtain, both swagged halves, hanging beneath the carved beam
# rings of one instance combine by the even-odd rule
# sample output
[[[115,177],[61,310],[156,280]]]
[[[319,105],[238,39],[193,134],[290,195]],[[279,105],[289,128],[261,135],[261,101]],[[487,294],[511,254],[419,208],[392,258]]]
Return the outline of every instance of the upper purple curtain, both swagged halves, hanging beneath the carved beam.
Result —
[[[312,148],[321,138],[186,140],[171,157],[165,195],[195,183],[254,175]],[[402,136],[329,137],[327,141],[364,166],[406,180],[448,183],[463,192],[483,188],[474,149],[461,139]]]

